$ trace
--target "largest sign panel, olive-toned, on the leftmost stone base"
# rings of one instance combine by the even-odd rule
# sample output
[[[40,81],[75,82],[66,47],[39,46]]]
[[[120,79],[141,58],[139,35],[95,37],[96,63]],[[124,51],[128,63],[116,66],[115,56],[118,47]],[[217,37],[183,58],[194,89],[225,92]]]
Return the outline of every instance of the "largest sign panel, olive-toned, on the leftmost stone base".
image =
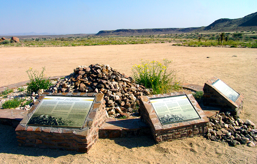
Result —
[[[95,97],[45,96],[27,125],[82,128]]]

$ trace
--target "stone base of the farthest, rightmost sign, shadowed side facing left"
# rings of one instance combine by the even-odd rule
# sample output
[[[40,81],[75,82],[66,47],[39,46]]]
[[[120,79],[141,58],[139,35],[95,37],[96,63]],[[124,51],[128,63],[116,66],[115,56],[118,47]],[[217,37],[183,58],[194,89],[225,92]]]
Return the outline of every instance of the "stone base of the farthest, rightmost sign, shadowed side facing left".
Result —
[[[244,96],[240,94],[236,101],[233,102],[212,85],[217,80],[217,77],[212,77],[205,82],[203,87],[204,105],[218,106],[224,111],[230,111],[233,115],[239,116],[243,108]]]

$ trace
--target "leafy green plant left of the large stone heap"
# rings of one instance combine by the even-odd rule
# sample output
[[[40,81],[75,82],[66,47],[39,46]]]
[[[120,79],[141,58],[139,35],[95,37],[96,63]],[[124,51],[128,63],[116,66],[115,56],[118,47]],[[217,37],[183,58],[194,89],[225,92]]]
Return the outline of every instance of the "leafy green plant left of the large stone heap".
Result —
[[[37,70],[34,71],[32,68],[26,71],[30,79],[30,83],[27,83],[28,94],[31,94],[32,92],[37,92],[39,89],[48,89],[52,85],[49,78],[47,79],[44,77],[44,71],[45,67],[42,67],[42,71],[40,74]]]

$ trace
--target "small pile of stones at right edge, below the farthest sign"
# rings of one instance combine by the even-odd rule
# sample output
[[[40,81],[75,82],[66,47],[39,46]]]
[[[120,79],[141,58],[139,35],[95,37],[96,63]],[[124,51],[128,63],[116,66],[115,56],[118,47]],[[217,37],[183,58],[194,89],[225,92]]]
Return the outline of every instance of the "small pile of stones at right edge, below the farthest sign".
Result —
[[[227,142],[231,146],[255,146],[257,129],[250,121],[242,121],[238,116],[230,116],[230,112],[216,114],[210,118],[206,137],[212,141]]]

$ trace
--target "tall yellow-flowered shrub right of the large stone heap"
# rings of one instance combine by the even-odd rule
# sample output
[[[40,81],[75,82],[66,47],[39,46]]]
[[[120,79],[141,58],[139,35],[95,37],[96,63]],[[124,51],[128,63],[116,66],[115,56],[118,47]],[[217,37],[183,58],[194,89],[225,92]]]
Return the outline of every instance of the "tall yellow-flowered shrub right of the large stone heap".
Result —
[[[168,66],[172,62],[163,59],[163,64],[158,61],[141,61],[141,65],[135,65],[132,68],[133,78],[136,83],[152,89],[152,94],[168,93],[172,90],[181,88],[178,82],[175,82],[175,71],[168,71]]]

